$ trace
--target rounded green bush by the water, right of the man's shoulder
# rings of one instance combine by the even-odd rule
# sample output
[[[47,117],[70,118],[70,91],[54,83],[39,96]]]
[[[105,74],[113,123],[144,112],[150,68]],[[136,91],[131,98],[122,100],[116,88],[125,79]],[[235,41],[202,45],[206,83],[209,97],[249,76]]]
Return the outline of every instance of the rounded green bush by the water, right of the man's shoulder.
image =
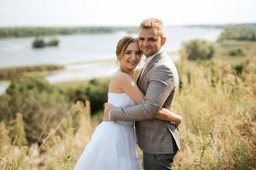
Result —
[[[212,42],[205,40],[191,40],[183,43],[188,53],[188,59],[211,59],[214,54]]]

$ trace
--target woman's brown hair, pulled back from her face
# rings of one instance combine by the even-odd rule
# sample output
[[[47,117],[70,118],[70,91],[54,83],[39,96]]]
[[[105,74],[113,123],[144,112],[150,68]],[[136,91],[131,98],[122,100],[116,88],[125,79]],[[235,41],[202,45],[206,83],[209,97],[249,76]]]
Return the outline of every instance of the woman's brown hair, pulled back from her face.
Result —
[[[122,37],[117,46],[116,46],[116,51],[115,54],[117,57],[123,56],[125,54],[125,49],[132,43],[132,42],[137,42],[136,37],[130,37],[130,36],[125,36]]]

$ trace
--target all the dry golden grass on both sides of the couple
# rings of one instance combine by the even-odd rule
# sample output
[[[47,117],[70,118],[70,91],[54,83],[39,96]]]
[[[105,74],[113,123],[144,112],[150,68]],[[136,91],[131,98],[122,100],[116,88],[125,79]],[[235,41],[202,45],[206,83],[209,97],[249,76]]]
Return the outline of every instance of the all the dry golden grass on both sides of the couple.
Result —
[[[255,169],[255,58],[251,56],[238,77],[223,61],[189,65],[182,53],[178,65],[182,87],[174,104],[174,111],[183,116],[176,169]],[[0,169],[73,169],[99,118],[92,121],[90,108],[81,104],[67,112],[69,116],[52,127],[40,145],[26,144],[21,115],[13,134],[1,122]],[[79,116],[77,129],[71,126],[73,115]],[[14,142],[11,135],[16,137]]]

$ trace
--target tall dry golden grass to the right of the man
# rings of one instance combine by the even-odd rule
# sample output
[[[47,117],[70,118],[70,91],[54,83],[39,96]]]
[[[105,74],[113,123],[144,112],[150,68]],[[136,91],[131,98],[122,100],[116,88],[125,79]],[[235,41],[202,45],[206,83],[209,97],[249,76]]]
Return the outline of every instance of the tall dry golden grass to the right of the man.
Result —
[[[180,67],[175,111],[183,116],[177,169],[253,169],[256,166],[256,56],[241,77],[224,61]]]

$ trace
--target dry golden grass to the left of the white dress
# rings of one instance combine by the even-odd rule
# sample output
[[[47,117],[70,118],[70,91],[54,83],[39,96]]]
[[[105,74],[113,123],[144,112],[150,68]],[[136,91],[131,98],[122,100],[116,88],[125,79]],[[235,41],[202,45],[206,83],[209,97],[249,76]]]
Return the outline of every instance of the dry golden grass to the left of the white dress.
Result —
[[[16,136],[19,137],[12,143],[5,124],[0,124],[0,169],[73,169],[84,145],[90,140],[90,135],[96,123],[90,119],[90,105],[77,103],[68,111],[68,118],[60,120],[56,127],[52,127],[43,143],[27,146],[20,143],[25,140],[22,125],[22,116],[19,114],[15,125],[18,125]],[[79,116],[79,128],[73,129],[73,115]],[[21,119],[20,119],[21,117]],[[41,136],[43,136],[43,133]]]

